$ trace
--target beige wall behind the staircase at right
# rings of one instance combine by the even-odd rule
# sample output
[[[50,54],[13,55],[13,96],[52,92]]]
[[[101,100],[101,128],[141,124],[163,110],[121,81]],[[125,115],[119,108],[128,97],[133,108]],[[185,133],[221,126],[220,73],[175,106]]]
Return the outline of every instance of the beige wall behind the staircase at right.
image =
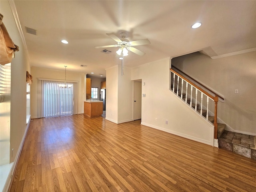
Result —
[[[225,101],[218,102],[218,118],[228,129],[256,134],[255,51],[218,59],[196,52],[173,58],[172,65],[224,96]]]

